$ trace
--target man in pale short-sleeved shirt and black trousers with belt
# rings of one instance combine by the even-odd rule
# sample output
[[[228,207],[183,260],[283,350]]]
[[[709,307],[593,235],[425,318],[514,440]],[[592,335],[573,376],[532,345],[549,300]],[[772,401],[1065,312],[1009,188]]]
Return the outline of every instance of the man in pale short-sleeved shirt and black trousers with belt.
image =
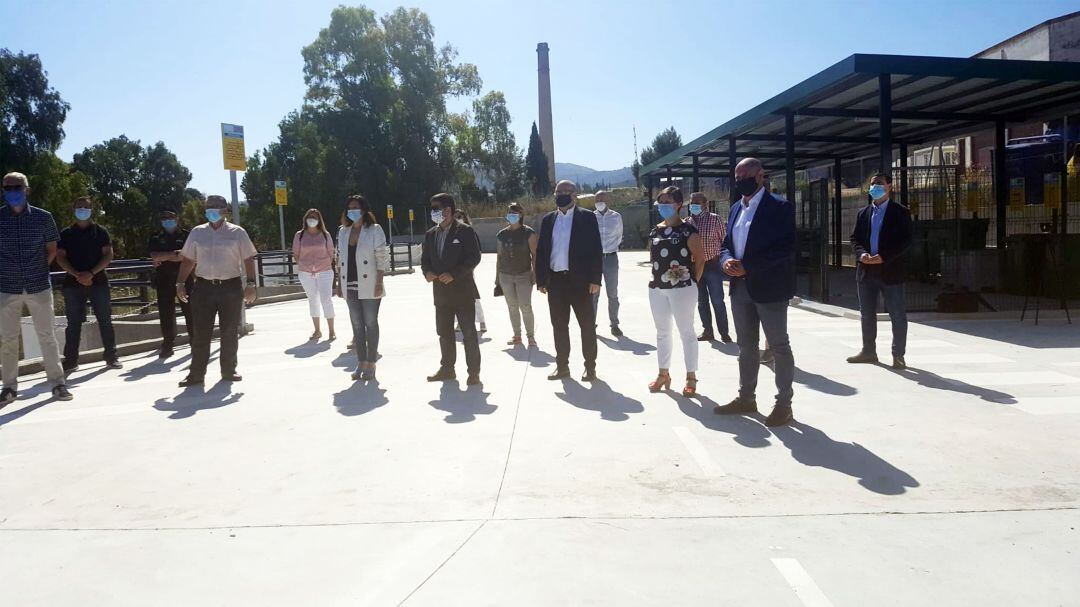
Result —
[[[194,271],[191,289],[191,367],[180,381],[180,388],[200,386],[210,362],[210,341],[214,333],[214,316],[221,327],[221,380],[240,381],[237,374],[237,350],[240,348],[240,319],[244,304],[255,301],[255,245],[247,232],[226,220],[228,203],[224,197],[206,197],[206,222],[191,229],[180,256],[180,274],[176,296],[188,300],[185,284]],[[246,281],[244,279],[246,276]]]

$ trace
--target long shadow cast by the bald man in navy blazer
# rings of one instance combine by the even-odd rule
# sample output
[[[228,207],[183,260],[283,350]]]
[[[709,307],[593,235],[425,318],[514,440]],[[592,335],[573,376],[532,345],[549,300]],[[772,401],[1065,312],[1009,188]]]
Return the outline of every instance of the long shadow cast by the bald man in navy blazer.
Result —
[[[885,496],[899,496],[919,486],[910,474],[889,463],[859,443],[834,441],[821,430],[794,421],[772,433],[792,451],[795,461],[827,468],[859,478],[863,487]]]

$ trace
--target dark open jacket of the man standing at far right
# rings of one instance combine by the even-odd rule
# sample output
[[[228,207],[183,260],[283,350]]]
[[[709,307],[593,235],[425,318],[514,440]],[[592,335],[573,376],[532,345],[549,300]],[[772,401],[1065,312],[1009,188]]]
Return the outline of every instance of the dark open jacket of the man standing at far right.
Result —
[[[855,252],[855,260],[870,252],[870,210],[867,204],[859,212],[855,229],[851,232],[851,248]],[[904,254],[912,246],[912,212],[895,201],[890,201],[885,210],[881,222],[881,234],[878,237],[878,254],[882,264],[855,264],[855,281],[861,282],[866,276],[879,279],[885,284],[904,282]]]

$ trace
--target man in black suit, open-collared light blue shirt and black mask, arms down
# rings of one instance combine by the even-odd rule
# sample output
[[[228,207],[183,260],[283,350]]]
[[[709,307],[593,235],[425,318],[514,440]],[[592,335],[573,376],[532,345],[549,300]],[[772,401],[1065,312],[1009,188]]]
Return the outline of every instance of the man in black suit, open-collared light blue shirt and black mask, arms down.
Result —
[[[575,204],[577,186],[563,180],[555,186],[557,211],[544,215],[537,244],[537,288],[548,294],[551,326],[555,334],[555,372],[548,379],[570,377],[570,310],[581,327],[585,358],[582,381],[596,379],[596,314],[593,295],[600,292],[604,247],[596,215]]]

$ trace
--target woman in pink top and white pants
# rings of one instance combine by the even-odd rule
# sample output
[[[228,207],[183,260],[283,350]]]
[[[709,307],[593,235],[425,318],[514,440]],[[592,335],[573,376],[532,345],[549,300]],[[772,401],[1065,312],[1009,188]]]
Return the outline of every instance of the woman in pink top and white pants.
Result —
[[[309,208],[303,214],[303,229],[293,237],[293,258],[297,264],[300,285],[308,296],[308,308],[311,310],[311,324],[315,332],[309,338],[312,341],[322,339],[320,318],[326,319],[326,328],[334,334],[334,239],[326,231],[323,214],[318,208]]]

